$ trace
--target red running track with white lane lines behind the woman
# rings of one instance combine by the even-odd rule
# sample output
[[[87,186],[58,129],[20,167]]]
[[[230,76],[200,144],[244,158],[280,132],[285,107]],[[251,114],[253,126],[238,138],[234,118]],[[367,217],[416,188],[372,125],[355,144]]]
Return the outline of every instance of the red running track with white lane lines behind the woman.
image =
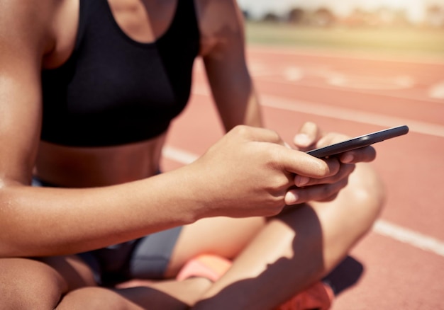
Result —
[[[337,309],[444,309],[444,59],[382,59],[249,47],[265,124],[287,142],[302,122],[357,136],[411,131],[375,145],[389,193],[374,229],[350,253],[362,274]],[[192,161],[223,134],[201,64],[192,100],[172,125],[163,169]],[[347,272],[353,272],[348,265]]]

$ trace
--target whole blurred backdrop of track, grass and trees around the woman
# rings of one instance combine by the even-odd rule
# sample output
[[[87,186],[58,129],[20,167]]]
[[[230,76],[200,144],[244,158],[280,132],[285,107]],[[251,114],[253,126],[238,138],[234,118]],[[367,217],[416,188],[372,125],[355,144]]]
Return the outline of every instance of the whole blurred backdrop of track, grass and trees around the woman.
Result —
[[[410,127],[374,145],[387,202],[335,270],[333,310],[444,309],[444,0],[238,4],[265,126],[289,144],[307,120],[352,137]],[[222,134],[198,61],[162,170],[193,161]]]

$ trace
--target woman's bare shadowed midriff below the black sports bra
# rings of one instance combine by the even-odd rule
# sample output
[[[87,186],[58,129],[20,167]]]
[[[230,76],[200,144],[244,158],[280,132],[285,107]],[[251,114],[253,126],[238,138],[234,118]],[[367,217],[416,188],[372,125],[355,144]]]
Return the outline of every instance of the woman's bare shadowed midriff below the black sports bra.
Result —
[[[66,147],[40,142],[35,176],[70,188],[115,185],[155,175],[166,134],[116,147]]]

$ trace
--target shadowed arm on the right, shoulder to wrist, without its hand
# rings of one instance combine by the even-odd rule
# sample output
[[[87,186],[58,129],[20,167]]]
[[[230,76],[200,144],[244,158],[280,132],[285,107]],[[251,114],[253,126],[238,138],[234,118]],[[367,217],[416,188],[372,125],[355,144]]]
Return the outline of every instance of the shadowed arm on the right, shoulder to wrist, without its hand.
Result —
[[[199,2],[198,2],[199,3]],[[235,1],[201,1],[201,53],[225,129],[261,127],[257,94],[245,63],[243,16]]]

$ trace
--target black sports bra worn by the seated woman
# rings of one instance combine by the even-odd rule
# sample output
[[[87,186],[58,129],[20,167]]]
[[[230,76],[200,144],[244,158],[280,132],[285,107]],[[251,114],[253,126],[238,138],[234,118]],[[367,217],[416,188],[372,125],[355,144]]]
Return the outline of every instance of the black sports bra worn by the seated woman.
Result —
[[[162,134],[187,104],[198,52],[193,0],[177,0],[170,28],[152,43],[123,33],[107,0],[80,0],[72,56],[42,73],[41,139],[101,147]]]

